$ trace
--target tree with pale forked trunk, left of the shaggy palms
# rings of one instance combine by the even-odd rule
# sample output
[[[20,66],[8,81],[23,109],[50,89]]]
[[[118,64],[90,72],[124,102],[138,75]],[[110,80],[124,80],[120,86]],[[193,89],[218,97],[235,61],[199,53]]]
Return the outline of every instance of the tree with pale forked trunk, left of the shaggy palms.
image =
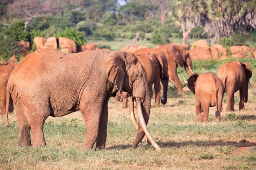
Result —
[[[171,3],[171,13],[179,21],[184,44],[189,43],[190,32],[197,24],[200,24],[204,12],[203,0],[177,0]]]

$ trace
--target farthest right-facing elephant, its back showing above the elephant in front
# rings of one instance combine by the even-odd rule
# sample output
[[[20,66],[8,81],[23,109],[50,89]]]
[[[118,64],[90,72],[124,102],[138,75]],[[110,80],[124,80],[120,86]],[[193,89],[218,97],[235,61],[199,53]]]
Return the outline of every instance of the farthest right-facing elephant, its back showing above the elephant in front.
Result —
[[[162,45],[158,49],[144,48],[134,51],[133,53],[136,55],[144,52],[156,53],[157,55],[165,58],[168,65],[169,78],[176,83],[178,88],[178,95],[181,95],[182,84],[177,74],[177,65],[180,65],[181,67],[184,66],[184,69],[188,75],[193,73],[191,58],[186,47],[182,45]]]

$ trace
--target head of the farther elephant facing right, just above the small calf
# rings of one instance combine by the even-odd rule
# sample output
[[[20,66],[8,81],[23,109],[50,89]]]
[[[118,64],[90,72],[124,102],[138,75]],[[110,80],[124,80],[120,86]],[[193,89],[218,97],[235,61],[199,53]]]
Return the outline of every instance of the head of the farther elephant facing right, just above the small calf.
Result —
[[[184,69],[188,75],[193,73],[192,61],[189,51],[185,46],[169,45],[168,53],[176,64],[180,65],[181,67],[184,66]]]

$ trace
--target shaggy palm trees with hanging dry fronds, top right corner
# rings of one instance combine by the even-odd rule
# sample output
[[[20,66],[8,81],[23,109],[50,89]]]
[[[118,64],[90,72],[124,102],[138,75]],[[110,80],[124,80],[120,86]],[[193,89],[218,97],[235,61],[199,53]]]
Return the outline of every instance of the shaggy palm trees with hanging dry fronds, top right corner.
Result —
[[[229,37],[237,31],[255,30],[256,3],[253,0],[208,0],[207,17],[202,21],[205,32],[220,37]]]

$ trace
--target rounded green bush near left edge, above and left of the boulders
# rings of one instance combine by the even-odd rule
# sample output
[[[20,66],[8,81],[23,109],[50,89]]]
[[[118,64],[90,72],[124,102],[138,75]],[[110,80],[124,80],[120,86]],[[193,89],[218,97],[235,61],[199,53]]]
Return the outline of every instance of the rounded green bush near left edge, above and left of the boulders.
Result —
[[[28,40],[29,31],[24,26],[24,20],[13,20],[7,28],[4,28],[3,33],[16,41]]]

